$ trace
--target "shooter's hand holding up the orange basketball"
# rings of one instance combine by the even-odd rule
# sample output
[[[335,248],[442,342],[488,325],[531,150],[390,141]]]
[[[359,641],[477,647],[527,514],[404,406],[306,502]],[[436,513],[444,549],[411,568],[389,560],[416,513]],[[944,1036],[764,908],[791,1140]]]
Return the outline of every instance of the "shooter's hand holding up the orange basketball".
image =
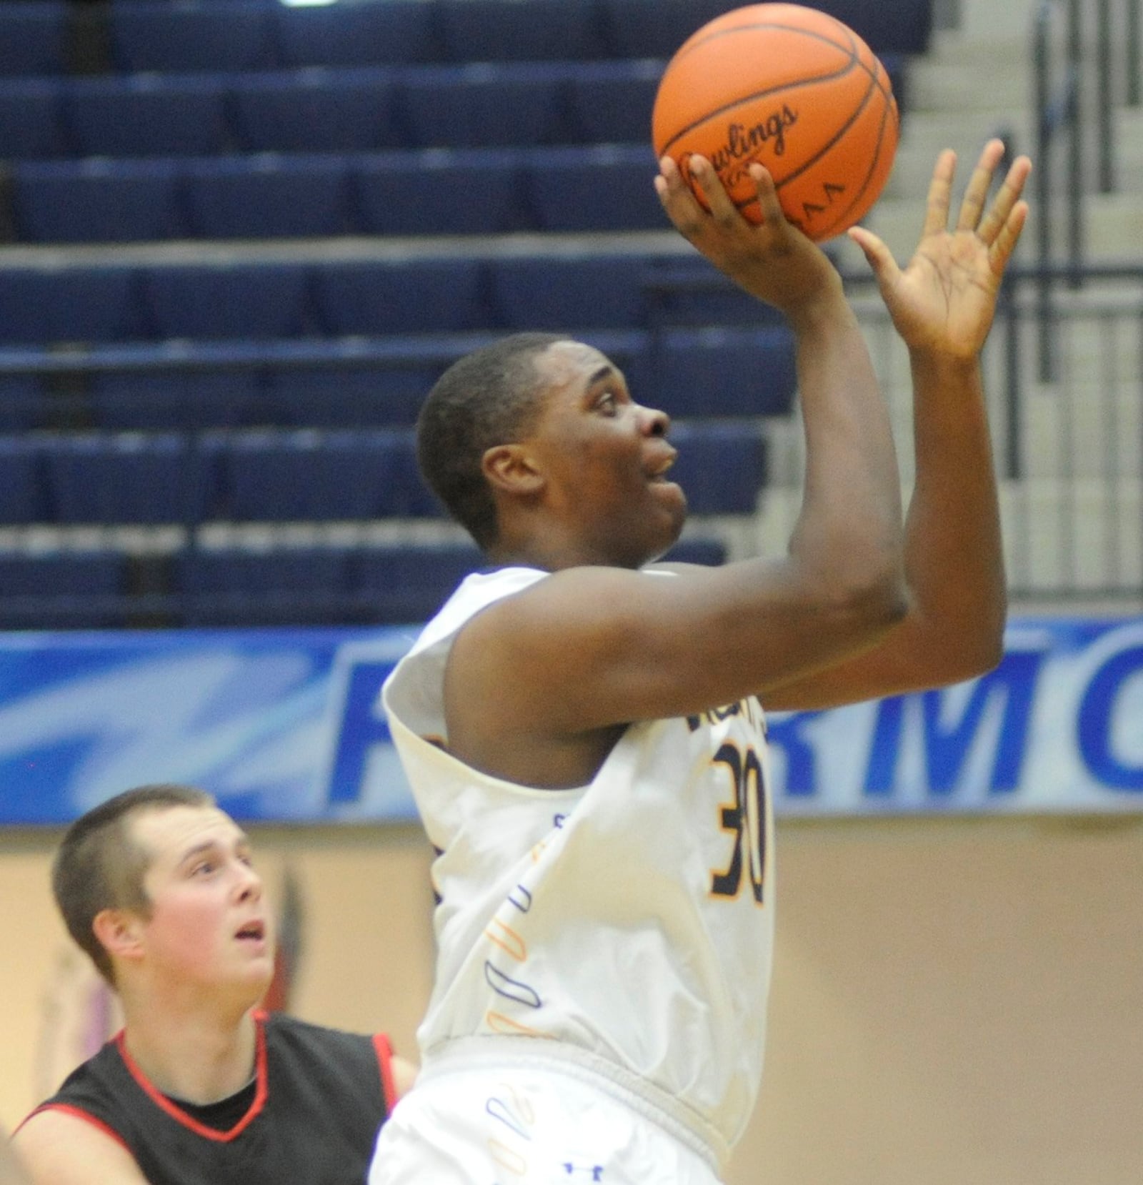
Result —
[[[762,165],[750,166],[762,209],[757,225],[741,216],[709,161],[692,156],[688,167],[708,209],[669,156],[660,161],[655,188],[679,233],[720,271],[789,315],[822,295],[840,293],[833,263],[786,219],[773,179]]]

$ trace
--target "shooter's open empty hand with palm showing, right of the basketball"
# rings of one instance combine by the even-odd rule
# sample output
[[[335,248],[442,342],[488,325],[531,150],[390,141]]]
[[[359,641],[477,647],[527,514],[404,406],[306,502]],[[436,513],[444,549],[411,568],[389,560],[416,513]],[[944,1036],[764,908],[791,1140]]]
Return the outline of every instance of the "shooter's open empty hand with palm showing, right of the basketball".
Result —
[[[1000,140],[984,146],[950,229],[956,153],[940,153],[929,186],[920,243],[904,270],[876,235],[859,226],[849,231],[869,261],[893,324],[910,350],[968,360],[984,345],[1004,268],[1028,217],[1028,203],[1020,197],[1032,169],[1027,156],[1013,161],[985,209],[1003,154]]]

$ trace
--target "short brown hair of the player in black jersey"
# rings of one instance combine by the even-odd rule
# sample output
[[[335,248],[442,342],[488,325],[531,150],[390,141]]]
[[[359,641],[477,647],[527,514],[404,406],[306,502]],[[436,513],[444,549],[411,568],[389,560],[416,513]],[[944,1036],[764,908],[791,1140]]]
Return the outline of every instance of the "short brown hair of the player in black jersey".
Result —
[[[52,892],[68,933],[114,987],[115,968],[91,928],[104,909],[143,916],[150,899],[143,878],[150,856],[130,835],[130,820],[143,811],[212,807],[214,798],[193,786],[136,786],[81,815],[64,833],[52,861]]]

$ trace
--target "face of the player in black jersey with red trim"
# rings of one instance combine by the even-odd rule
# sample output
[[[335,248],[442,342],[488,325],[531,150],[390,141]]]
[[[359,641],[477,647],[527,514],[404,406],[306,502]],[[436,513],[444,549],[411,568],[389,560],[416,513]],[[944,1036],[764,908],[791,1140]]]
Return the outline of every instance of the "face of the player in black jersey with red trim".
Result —
[[[179,806],[141,812],[133,835],[152,857],[143,934],[155,973],[261,995],[274,974],[272,918],[243,831],[217,807]]]

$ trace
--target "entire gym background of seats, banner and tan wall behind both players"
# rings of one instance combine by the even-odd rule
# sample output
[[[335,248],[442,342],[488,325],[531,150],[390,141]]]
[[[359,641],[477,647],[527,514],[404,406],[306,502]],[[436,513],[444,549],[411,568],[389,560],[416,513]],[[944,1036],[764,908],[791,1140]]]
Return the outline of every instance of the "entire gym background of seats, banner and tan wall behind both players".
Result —
[[[676,418],[689,556],[782,545],[789,342],[650,190],[655,81],[733,6],[0,6],[6,1126],[115,1023],[47,867],[68,818],[143,781],[255,835],[284,1005],[415,1053],[430,853],[375,692],[475,562],[410,467],[458,352],[582,332]],[[775,719],[778,962],[730,1185],[1136,1185],[1141,5],[820,7],[893,78],[867,223],[899,257],[940,147],[1035,159],[987,353],[1012,626],[976,684]],[[905,361],[831,249],[907,453]]]

